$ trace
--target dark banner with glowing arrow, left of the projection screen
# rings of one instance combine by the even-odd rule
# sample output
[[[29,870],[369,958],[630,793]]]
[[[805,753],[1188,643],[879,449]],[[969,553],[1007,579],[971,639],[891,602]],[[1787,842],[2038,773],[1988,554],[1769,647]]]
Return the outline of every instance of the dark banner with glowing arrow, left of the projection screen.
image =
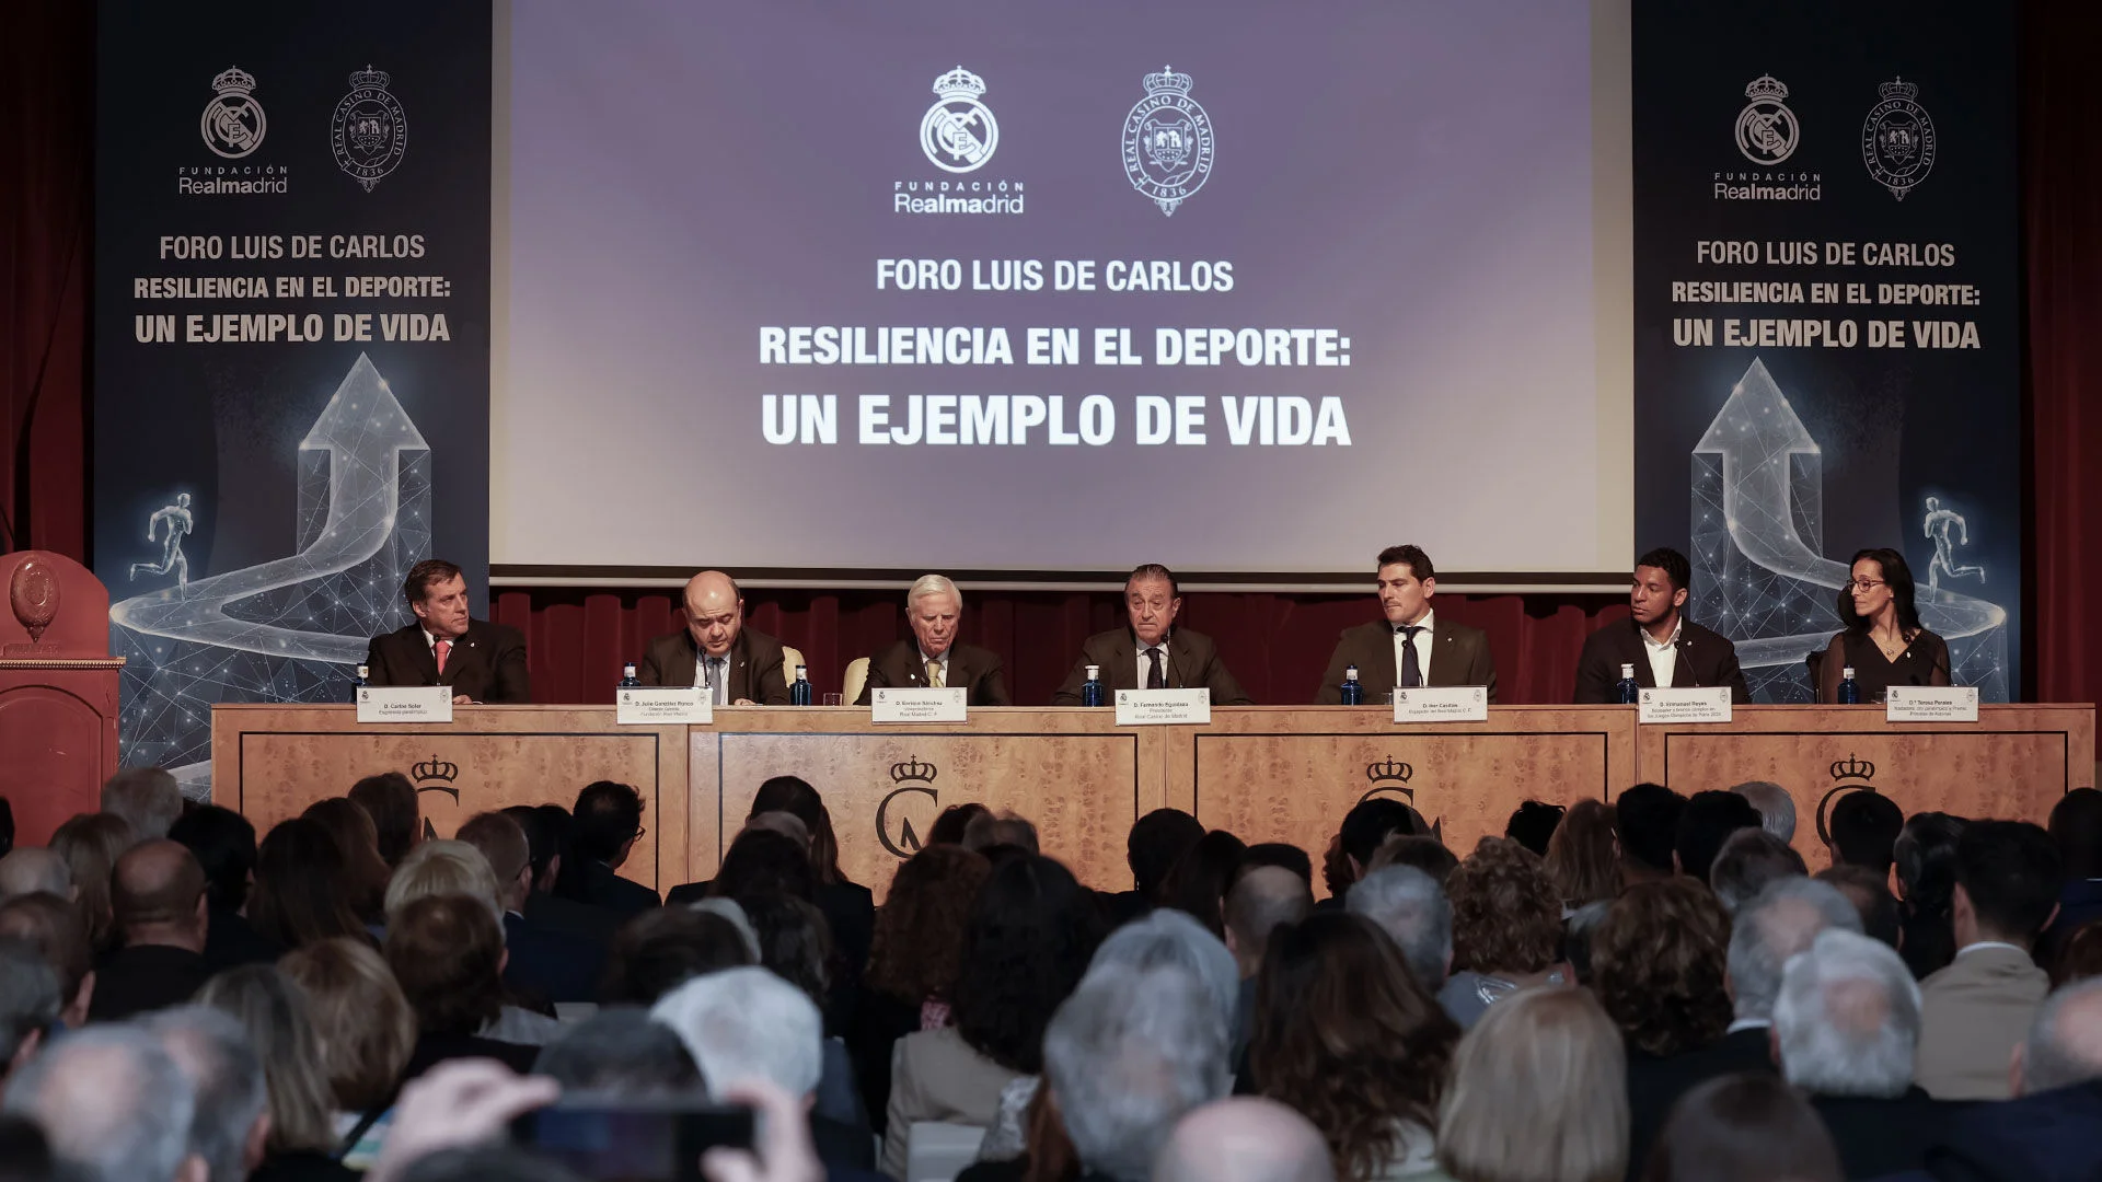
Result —
[[[202,784],[212,702],[343,700],[410,564],[486,583],[490,6],[99,17],[95,572],[124,761]]]

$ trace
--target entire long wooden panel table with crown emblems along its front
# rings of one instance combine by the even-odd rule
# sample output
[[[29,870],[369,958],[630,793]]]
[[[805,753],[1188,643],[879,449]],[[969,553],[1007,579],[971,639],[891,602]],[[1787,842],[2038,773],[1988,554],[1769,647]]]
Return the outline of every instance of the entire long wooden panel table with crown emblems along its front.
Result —
[[[1413,803],[1465,854],[1524,799],[1610,801],[1774,780],[1797,848],[1846,791],[1907,812],[2043,820],[2094,782],[2094,707],[1984,707],[1974,726],[1896,726],[1875,707],[1738,707],[1726,726],[1637,726],[1631,707],[1495,707],[1488,721],[1396,726],[1383,707],[1228,707],[1209,726],[1118,728],[1108,709],[1007,707],[954,726],[874,726],[856,707],[731,707],[715,726],[616,726],[612,707],[458,707],[450,726],[357,726],[351,707],[212,711],[212,793],[267,831],[397,770],[435,835],[509,803],[572,803],[591,780],[641,789],[647,835],[622,873],[658,890],[715,875],[767,776],[824,791],[841,869],[879,894],[942,808],[982,801],[1036,822],[1083,881],[1125,890],[1125,835],[1173,806],[1246,841],[1320,858],[1368,795]]]

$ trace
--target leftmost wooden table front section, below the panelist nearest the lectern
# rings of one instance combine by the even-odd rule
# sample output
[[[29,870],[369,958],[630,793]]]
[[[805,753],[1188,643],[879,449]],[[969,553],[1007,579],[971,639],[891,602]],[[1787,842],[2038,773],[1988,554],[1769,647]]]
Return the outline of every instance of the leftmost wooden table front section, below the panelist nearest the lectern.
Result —
[[[687,881],[683,726],[614,726],[612,707],[454,707],[452,719],[357,726],[355,707],[217,707],[212,801],[263,837],[364,776],[401,772],[427,833],[452,837],[477,812],[572,808],[584,784],[618,780],[641,791],[645,829],[620,873],[658,890]]]

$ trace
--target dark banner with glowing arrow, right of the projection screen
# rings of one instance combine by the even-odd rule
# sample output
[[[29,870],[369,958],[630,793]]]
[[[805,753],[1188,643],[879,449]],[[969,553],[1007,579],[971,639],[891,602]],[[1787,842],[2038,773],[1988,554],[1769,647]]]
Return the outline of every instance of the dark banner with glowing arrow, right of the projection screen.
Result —
[[[1858,549],[2020,686],[2012,4],[1637,0],[1635,536],[1810,700]]]

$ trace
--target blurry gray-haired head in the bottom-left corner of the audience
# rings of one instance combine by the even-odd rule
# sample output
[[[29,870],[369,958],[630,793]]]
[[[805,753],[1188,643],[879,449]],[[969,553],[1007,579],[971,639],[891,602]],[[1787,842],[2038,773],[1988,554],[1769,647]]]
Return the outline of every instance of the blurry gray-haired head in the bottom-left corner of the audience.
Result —
[[[189,1079],[139,1026],[67,1035],[8,1081],[4,1106],[44,1127],[69,1180],[206,1182]]]

